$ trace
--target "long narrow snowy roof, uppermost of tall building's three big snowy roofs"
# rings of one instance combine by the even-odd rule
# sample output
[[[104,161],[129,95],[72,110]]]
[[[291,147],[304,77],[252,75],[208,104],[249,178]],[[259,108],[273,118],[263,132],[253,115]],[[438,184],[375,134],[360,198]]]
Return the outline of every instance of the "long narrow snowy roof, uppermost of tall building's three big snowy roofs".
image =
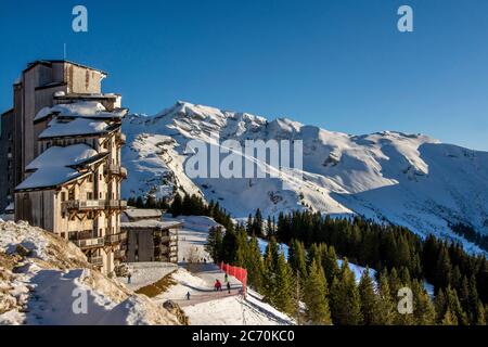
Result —
[[[40,110],[34,121],[44,119],[50,115],[60,115],[64,117],[85,117],[85,118],[123,118],[127,114],[126,108],[118,108],[113,112],[106,111],[106,108],[97,101],[79,101],[68,104],[59,104],[52,107],[44,107]]]

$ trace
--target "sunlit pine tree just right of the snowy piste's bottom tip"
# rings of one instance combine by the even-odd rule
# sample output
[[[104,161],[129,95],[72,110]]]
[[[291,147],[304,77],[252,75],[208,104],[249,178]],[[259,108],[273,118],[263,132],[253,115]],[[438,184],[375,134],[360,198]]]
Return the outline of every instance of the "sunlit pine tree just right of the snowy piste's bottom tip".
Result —
[[[329,325],[332,323],[328,294],[328,282],[323,269],[317,260],[313,260],[305,281],[304,293],[306,317],[312,324]]]

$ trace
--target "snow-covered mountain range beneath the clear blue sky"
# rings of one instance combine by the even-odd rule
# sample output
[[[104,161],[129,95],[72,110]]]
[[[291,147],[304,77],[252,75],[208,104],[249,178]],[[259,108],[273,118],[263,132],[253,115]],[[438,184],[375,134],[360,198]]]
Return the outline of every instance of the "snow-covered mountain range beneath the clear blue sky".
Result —
[[[265,216],[312,208],[339,216],[356,213],[459,241],[449,222],[471,224],[488,234],[486,152],[442,144],[423,134],[349,136],[286,118],[268,121],[184,102],[155,116],[127,117],[124,131],[128,145],[123,160],[130,174],[124,185],[126,197],[185,191],[219,201],[234,217],[245,217],[258,207]],[[190,180],[183,170],[189,158],[185,145],[200,139],[218,146],[213,132],[219,134],[220,143],[227,139],[241,144],[245,140],[303,140],[301,184],[294,184],[287,176]],[[283,181],[292,189],[283,190]]]

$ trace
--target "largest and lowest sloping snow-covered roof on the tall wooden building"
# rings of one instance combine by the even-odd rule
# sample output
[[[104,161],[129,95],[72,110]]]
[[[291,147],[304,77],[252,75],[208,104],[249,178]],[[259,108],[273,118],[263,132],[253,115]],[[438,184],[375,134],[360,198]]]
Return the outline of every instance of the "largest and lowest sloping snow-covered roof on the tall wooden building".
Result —
[[[50,147],[27,165],[26,170],[35,172],[15,189],[17,191],[42,189],[69,182],[85,175],[76,170],[76,166],[99,156],[97,151],[86,144]]]

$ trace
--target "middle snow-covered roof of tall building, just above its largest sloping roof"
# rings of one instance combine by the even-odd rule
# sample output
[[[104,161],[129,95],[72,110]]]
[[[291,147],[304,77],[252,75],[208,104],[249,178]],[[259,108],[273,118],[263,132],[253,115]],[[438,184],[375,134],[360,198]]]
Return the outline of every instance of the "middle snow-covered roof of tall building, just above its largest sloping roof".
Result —
[[[106,133],[108,131],[107,128],[108,125],[103,120],[75,118],[72,121],[63,121],[55,118],[40,133],[39,139]]]

